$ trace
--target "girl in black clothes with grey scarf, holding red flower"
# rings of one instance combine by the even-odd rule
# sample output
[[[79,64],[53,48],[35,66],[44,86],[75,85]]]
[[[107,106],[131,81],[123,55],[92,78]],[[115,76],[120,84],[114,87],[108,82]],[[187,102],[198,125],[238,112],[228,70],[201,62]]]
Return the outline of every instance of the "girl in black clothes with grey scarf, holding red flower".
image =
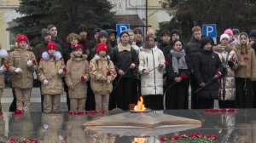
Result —
[[[173,42],[173,49],[166,58],[166,109],[188,109],[189,60],[180,40]]]

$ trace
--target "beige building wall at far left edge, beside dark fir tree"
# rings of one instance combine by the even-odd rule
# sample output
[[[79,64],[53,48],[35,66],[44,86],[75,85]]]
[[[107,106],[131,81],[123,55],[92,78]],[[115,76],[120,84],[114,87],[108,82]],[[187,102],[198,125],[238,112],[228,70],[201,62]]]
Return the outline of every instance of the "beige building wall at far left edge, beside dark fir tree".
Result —
[[[0,0],[0,44],[3,49],[9,49],[8,20],[12,18],[11,12],[15,14],[15,8],[19,5],[19,0]]]

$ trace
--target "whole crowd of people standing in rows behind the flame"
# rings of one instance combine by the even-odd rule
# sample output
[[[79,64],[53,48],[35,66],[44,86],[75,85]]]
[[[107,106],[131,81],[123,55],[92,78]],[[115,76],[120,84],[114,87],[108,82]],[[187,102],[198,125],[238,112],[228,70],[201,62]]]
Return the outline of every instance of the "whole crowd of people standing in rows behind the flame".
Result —
[[[192,28],[189,43],[180,31],[153,29],[122,31],[117,43],[113,29],[95,28],[89,39],[81,25],[63,42],[57,28],[41,31],[42,43],[30,47],[26,35],[16,37],[8,54],[0,50],[0,97],[4,72],[10,72],[14,101],[10,112],[29,111],[33,83],[40,83],[42,112],[60,112],[61,94],[67,94],[68,111],[129,110],[143,96],[153,110],[256,107],[256,30],[227,29],[219,44]],[[143,42],[143,39],[145,41]],[[1,103],[1,102],[0,102]],[[0,104],[1,110],[1,104]]]

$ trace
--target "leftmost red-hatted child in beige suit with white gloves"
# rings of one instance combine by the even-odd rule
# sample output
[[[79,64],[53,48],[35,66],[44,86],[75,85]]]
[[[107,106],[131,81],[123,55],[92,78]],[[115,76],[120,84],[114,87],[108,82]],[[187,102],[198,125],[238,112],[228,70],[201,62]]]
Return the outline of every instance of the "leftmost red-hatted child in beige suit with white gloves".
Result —
[[[9,54],[9,72],[13,73],[12,87],[15,89],[17,111],[27,112],[33,87],[32,73],[38,66],[35,55],[26,49],[27,37],[19,35],[16,44],[18,49]]]

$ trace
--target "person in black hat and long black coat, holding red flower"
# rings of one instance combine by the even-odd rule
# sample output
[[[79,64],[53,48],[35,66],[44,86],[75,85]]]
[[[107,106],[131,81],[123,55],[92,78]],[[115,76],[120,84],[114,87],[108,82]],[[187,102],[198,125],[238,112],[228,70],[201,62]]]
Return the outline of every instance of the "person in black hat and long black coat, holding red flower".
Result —
[[[195,78],[202,88],[197,94],[198,108],[213,108],[214,100],[218,100],[218,78],[222,75],[223,66],[218,54],[212,51],[208,37],[201,39],[201,50],[195,55],[193,65]]]

